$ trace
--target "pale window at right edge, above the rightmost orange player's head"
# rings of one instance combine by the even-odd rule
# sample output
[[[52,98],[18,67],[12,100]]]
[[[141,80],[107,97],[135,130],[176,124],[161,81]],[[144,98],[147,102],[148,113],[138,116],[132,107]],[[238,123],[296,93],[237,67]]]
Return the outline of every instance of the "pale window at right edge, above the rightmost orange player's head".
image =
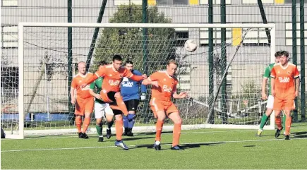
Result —
[[[304,23],[305,44],[307,44],[307,23]],[[300,45],[300,23],[296,23],[296,45]],[[292,45],[292,23],[286,23],[286,45]]]

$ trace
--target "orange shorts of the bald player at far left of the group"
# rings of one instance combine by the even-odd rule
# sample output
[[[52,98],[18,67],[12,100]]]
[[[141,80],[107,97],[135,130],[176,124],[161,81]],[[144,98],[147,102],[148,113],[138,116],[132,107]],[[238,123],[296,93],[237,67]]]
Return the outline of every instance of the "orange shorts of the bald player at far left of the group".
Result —
[[[92,113],[92,110],[94,109],[94,102],[93,97],[86,99],[77,97],[75,114],[78,116],[84,116],[85,113]]]

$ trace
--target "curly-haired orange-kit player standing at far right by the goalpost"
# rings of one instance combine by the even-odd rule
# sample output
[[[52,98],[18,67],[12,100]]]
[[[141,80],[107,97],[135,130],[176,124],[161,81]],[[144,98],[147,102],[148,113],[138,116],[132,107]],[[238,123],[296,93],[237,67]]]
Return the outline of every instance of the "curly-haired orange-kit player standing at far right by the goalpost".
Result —
[[[286,115],[285,140],[289,140],[291,127],[291,110],[294,108],[294,98],[299,95],[299,71],[293,63],[289,63],[289,52],[282,51],[279,63],[272,68],[271,87],[274,96],[275,123],[277,130],[275,138],[278,138],[282,127],[280,112],[284,109]]]

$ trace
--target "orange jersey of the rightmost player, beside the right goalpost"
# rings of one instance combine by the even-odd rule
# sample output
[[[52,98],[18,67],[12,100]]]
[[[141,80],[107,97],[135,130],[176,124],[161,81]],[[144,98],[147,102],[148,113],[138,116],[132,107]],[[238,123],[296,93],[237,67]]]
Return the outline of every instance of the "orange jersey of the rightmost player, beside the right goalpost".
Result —
[[[299,78],[299,71],[293,63],[283,67],[278,63],[272,68],[271,77],[275,78],[275,97],[279,99],[294,99],[295,83],[294,79]]]

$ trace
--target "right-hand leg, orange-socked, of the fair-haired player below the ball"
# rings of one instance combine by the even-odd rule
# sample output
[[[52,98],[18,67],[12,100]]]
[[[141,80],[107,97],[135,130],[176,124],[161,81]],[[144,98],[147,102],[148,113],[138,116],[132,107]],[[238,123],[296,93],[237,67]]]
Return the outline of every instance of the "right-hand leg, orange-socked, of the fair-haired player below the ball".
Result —
[[[179,146],[179,138],[182,124],[182,119],[179,115],[179,112],[173,112],[169,114],[169,119],[174,122],[173,142],[171,145],[171,150],[183,150],[183,148]]]

